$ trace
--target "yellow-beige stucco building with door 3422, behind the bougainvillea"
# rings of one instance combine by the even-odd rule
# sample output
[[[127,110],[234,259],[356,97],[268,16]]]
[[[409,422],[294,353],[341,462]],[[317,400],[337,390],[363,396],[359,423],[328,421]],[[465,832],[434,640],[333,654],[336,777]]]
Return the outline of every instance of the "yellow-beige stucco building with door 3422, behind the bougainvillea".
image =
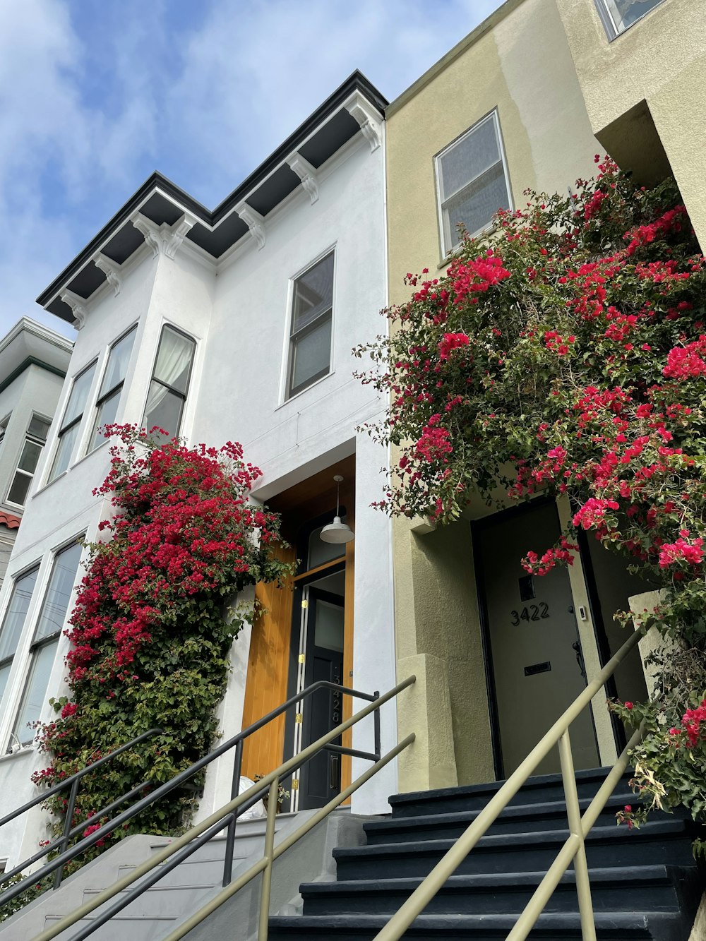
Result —
[[[477,234],[528,188],[565,193],[597,153],[646,182],[672,172],[706,244],[704,50],[701,0],[507,0],[387,109],[391,303],[406,272],[445,269],[457,222]],[[400,736],[417,732],[401,790],[514,770],[626,639],[613,614],[649,586],[598,544],[534,584],[515,561],[568,514],[472,505],[436,530],[395,522],[398,676],[417,676],[399,710]],[[644,696],[636,655],[607,694]],[[624,742],[605,698],[574,731],[579,766]]]

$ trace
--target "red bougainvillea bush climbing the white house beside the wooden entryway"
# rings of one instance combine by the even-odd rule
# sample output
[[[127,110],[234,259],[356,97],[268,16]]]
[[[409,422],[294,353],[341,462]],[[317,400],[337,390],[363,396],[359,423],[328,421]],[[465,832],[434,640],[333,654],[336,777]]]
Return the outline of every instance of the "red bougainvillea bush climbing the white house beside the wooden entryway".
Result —
[[[51,760],[34,780],[55,784],[152,727],[163,731],[83,779],[74,825],[142,782],[149,792],[208,751],[243,623],[230,603],[247,585],[281,581],[287,571],[272,551],[279,518],[249,503],[260,470],[244,462],[240,445],[157,444],[130,425],[106,435],[118,442],[94,495],[110,497],[114,516],[100,524],[104,541],[89,547],[66,631],[70,694],[55,704],[56,721],[40,726]],[[201,782],[142,811],[107,845],[130,833],[179,831]],[[56,833],[66,796],[48,802]]]

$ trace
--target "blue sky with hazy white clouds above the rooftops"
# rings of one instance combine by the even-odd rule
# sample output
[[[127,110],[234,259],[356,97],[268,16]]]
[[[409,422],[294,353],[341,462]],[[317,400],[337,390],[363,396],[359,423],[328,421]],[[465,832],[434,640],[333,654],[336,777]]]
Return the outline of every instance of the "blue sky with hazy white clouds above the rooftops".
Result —
[[[213,209],[355,69],[390,101],[500,0],[0,0],[0,336],[159,170]]]

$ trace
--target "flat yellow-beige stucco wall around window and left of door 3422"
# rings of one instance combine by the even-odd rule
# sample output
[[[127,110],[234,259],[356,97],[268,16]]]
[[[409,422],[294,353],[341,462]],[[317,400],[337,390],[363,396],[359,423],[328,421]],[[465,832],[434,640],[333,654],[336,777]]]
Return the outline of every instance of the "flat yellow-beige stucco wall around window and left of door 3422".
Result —
[[[409,296],[408,271],[441,263],[433,157],[498,109],[514,205],[523,190],[566,192],[592,174],[599,145],[554,0],[509,0],[426,73],[387,114],[390,295]],[[400,734],[422,730],[400,758],[400,787],[494,776],[468,522],[432,534],[393,527],[398,674],[423,678],[405,694]]]

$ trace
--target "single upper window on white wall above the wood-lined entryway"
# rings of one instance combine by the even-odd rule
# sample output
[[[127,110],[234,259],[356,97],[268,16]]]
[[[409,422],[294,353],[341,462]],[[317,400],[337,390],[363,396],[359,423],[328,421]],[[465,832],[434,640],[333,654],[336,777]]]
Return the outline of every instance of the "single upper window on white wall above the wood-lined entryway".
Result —
[[[287,398],[330,372],[333,261],[331,251],[294,282]]]

